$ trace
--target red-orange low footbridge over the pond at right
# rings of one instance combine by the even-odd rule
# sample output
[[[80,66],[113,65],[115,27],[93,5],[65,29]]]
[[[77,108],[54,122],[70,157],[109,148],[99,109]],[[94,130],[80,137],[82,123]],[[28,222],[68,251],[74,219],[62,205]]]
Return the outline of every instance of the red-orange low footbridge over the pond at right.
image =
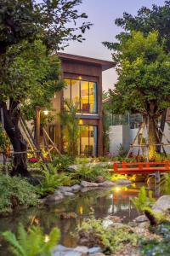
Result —
[[[170,172],[170,161],[114,163],[113,170],[110,172],[116,172],[120,174],[150,174],[155,172]]]

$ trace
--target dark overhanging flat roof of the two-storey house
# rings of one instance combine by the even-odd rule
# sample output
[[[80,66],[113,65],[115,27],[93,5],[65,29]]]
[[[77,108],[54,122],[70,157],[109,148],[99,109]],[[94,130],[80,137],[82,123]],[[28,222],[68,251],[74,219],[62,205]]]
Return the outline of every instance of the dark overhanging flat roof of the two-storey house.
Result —
[[[104,61],[104,60],[89,58],[81,55],[70,55],[70,54],[59,52],[58,56],[61,60],[64,60],[64,61],[75,61],[77,63],[84,63],[88,65],[93,64],[94,66],[102,67],[102,71],[105,71],[111,67],[116,66],[116,63],[113,61]]]

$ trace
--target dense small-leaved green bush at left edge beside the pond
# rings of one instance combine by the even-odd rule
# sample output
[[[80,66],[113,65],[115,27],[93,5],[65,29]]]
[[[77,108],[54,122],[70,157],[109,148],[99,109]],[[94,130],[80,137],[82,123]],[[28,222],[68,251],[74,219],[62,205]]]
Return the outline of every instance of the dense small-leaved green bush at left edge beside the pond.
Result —
[[[36,189],[21,177],[0,175],[0,213],[11,212],[17,205],[36,206]]]

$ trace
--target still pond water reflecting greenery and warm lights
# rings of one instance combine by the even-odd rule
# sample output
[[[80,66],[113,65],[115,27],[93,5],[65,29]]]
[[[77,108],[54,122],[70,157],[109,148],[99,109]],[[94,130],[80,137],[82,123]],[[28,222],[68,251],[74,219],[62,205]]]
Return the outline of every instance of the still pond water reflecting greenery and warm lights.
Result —
[[[66,247],[76,247],[77,226],[84,218],[94,214],[95,218],[105,218],[115,215],[123,218],[123,222],[133,220],[138,212],[133,207],[131,198],[139,194],[142,183],[133,183],[129,187],[113,187],[110,189],[93,189],[77,193],[74,197],[67,197],[55,206],[31,207],[14,214],[8,218],[0,218],[0,232],[5,230],[16,231],[19,223],[28,227],[31,224],[40,224],[45,232],[53,227],[61,231],[60,243]],[[77,218],[61,219],[62,212],[76,212]],[[3,241],[0,255],[7,256],[7,247]]]

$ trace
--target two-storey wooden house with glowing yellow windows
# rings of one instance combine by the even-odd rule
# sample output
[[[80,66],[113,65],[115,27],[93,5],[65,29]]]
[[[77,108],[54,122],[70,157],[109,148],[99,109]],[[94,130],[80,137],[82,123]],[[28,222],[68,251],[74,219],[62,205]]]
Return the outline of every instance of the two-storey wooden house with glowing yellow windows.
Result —
[[[65,152],[64,127],[59,115],[65,108],[65,100],[77,106],[80,124],[79,154],[97,156],[103,154],[102,128],[102,72],[114,67],[112,61],[103,61],[80,55],[59,53],[65,89],[52,99],[55,118],[48,125],[49,137],[57,144],[60,152]]]

